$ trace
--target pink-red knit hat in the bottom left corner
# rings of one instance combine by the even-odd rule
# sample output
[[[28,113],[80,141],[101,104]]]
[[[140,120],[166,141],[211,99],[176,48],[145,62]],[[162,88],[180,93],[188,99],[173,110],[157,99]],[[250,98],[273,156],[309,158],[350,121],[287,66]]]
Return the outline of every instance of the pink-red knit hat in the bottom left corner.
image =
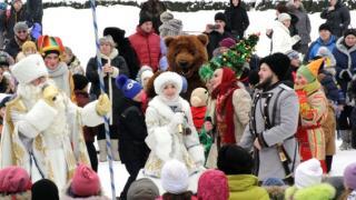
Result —
[[[28,172],[19,167],[0,170],[0,192],[17,193],[30,190],[32,182]]]

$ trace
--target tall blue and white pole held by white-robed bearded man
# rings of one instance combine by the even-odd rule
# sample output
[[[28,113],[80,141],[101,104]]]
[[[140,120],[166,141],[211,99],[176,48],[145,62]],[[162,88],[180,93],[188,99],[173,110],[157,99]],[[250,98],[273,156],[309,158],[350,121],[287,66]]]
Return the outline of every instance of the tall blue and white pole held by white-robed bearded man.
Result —
[[[103,84],[103,72],[102,72],[102,63],[100,59],[100,43],[98,38],[98,23],[97,23],[97,12],[96,12],[96,1],[90,0],[90,7],[92,11],[92,24],[95,29],[96,37],[96,49],[97,49],[97,63],[98,63],[98,74],[100,82],[100,91],[105,93],[105,84]],[[111,184],[111,199],[116,199],[116,190],[115,190],[115,179],[113,179],[113,168],[112,168],[112,152],[111,152],[111,142],[110,142],[110,129],[109,129],[109,119],[103,116],[103,124],[105,124],[105,137],[107,141],[107,152],[109,158],[109,170],[110,170],[110,184]]]

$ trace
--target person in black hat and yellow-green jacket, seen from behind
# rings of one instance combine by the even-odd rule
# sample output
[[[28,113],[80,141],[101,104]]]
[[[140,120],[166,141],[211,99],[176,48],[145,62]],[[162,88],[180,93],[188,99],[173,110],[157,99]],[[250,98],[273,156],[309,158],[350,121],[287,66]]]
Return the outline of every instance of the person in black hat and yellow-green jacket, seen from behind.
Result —
[[[236,144],[221,147],[217,167],[227,174],[229,199],[267,200],[269,196],[258,187],[258,178],[253,173],[254,160],[248,151]]]

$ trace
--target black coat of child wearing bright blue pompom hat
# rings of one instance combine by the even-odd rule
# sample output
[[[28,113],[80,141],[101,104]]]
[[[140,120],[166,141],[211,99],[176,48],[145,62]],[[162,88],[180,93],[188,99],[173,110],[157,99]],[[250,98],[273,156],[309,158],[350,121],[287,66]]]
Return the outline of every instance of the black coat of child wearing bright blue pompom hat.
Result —
[[[119,153],[121,162],[139,161],[145,163],[149,154],[149,148],[145,142],[147,127],[141,103],[125,98],[117,112],[119,114]]]

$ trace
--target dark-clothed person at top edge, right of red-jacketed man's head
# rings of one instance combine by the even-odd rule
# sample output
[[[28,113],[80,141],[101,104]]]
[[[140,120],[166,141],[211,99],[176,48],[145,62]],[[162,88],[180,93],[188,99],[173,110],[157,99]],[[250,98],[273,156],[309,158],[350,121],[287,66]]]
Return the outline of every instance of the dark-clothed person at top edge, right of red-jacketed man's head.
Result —
[[[159,27],[162,24],[160,14],[167,10],[166,4],[159,0],[147,0],[141,4],[140,18],[148,17],[152,19],[155,32],[159,34]]]

